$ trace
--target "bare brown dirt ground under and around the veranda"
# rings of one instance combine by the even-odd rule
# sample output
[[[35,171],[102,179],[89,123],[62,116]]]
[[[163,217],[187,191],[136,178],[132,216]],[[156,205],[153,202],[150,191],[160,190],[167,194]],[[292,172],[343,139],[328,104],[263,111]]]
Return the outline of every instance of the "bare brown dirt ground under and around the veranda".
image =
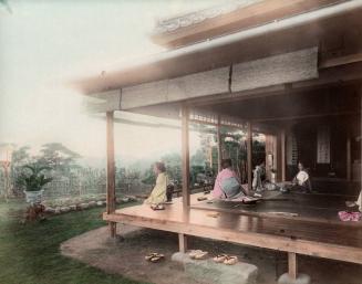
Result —
[[[182,265],[170,261],[178,250],[177,235],[173,233],[120,225],[121,238],[108,238],[107,228],[100,228],[73,238],[61,245],[64,255],[118,273],[128,278],[155,284],[201,284],[185,275]],[[276,284],[277,276],[287,271],[287,255],[281,252],[247,248],[226,242],[192,238],[192,249],[207,250],[214,254],[230,253],[240,261],[258,266],[258,284]],[[164,253],[162,263],[148,263],[144,256],[151,252]],[[299,256],[299,271],[312,277],[312,284],[362,284],[362,265]],[[204,283],[203,283],[204,284]]]

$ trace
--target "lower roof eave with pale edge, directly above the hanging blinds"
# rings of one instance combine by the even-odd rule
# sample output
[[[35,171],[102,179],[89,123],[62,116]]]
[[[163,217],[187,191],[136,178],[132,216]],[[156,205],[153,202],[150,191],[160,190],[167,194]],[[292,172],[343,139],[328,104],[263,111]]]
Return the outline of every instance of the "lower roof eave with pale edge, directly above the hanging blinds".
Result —
[[[297,1],[298,2],[298,1]],[[362,1],[352,0],[254,27],[210,41],[163,52],[94,76],[77,78],[74,86],[84,94],[173,78],[320,45],[320,56],[333,55],[340,40],[358,46],[362,33]],[[355,33],[355,34],[353,34]],[[349,36],[345,36],[348,34]],[[343,55],[343,54],[342,54]]]

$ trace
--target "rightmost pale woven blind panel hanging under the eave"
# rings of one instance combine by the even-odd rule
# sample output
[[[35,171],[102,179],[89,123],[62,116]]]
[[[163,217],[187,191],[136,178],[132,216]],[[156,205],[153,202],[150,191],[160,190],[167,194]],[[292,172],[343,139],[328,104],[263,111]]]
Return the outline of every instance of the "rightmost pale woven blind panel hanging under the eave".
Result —
[[[236,64],[231,91],[240,92],[318,77],[318,48]]]

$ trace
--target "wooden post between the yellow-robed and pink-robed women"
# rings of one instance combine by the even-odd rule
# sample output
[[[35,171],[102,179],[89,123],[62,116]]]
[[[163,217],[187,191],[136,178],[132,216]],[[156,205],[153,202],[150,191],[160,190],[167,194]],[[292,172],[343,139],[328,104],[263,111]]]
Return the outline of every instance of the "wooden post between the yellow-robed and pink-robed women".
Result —
[[[182,151],[183,151],[183,210],[189,209],[189,139],[188,139],[189,111],[182,106]]]

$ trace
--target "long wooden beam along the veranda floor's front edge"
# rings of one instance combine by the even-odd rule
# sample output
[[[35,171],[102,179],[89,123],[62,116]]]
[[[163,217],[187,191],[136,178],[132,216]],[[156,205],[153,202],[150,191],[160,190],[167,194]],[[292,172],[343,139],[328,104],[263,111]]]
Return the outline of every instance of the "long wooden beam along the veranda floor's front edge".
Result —
[[[155,230],[184,233],[187,235],[362,264],[361,248],[332,244],[328,242],[329,240],[309,241],[299,238],[252,232],[250,231],[250,229],[254,227],[250,224],[251,219],[247,225],[248,230],[240,230],[235,228],[234,222],[229,222],[226,227],[223,227],[218,220],[207,217],[207,212],[203,210],[197,210],[198,212],[195,212],[195,219],[190,221],[185,219],[173,220],[173,218],[165,218],[165,212],[157,212],[161,215],[157,219],[155,217],[149,217],[149,212],[145,209],[142,209],[142,211],[143,215],[135,215],[132,210],[130,213],[122,213],[122,211],[112,214],[104,213],[103,219],[106,221],[121,222]],[[170,215],[172,214],[168,214],[168,217]],[[227,214],[225,218],[228,220],[229,214]],[[206,224],[200,223],[201,221],[209,221],[210,219],[214,221],[210,221],[210,224],[207,224],[207,222]],[[258,219],[255,219],[255,222]],[[296,225],[298,224],[294,224],[294,227]],[[255,227],[257,227],[257,224],[255,224]]]

